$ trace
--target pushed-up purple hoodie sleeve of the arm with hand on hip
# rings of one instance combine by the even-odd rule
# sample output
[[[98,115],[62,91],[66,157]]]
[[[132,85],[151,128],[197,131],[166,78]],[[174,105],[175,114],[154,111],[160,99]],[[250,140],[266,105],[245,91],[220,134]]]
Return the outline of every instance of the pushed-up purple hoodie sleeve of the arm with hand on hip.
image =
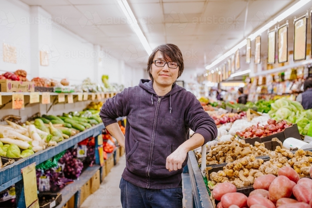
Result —
[[[128,89],[124,89],[124,91],[117,93],[114,97],[106,100],[100,110],[100,117],[104,126],[117,123],[117,118],[127,116],[129,114],[127,102]]]

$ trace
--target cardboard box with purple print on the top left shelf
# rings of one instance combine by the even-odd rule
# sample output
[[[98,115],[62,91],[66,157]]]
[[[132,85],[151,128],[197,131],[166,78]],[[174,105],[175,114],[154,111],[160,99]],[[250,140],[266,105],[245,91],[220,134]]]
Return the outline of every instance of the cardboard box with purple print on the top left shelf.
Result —
[[[34,82],[0,80],[0,92],[34,92]]]

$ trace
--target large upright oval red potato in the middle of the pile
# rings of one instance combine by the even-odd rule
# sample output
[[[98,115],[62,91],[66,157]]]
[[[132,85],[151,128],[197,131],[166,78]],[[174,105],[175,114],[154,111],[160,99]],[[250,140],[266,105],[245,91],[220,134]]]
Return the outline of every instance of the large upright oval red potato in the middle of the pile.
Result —
[[[292,193],[292,184],[286,176],[276,177],[269,188],[269,199],[276,203],[280,198],[289,198]]]

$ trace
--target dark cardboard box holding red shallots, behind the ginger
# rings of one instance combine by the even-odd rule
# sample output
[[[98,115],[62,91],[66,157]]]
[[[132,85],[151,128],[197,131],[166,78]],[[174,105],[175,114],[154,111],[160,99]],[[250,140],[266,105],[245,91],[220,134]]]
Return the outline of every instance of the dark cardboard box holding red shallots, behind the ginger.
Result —
[[[285,128],[284,131],[282,132],[275,133],[275,134],[272,134],[270,136],[266,136],[263,138],[259,138],[259,137],[246,138],[245,141],[246,143],[250,143],[253,145],[256,141],[260,143],[267,142],[267,141],[271,141],[272,138],[275,138],[275,137],[278,138],[282,143],[284,142],[286,138],[289,138],[289,137],[293,137],[293,138],[301,140],[301,136],[300,136],[297,124],[293,124],[291,127]]]

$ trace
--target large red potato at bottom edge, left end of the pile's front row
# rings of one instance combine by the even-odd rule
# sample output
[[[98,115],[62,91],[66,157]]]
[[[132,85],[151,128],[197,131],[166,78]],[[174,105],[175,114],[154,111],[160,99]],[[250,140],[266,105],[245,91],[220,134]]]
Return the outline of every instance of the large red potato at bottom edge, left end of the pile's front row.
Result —
[[[247,207],[247,199],[248,197],[242,193],[227,193],[221,197],[223,208],[229,208],[231,205],[237,205],[240,208]]]

